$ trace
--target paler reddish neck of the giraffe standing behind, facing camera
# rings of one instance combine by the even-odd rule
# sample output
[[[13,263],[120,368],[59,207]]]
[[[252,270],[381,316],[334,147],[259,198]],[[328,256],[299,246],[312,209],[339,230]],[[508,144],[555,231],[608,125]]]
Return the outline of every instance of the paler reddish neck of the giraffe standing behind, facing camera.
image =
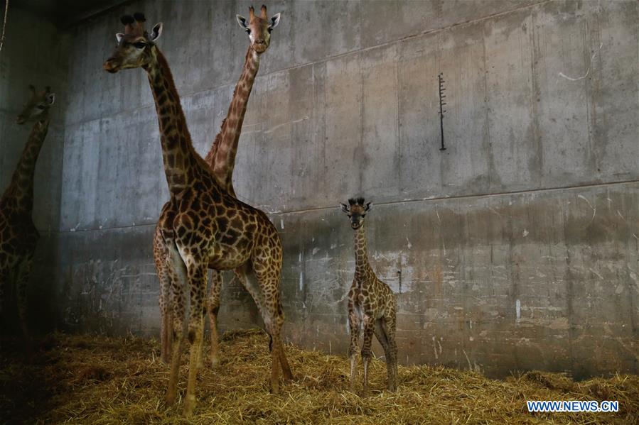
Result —
[[[235,191],[232,185],[232,174],[235,168],[237,143],[242,133],[242,123],[244,122],[257,70],[259,70],[259,55],[257,55],[252,46],[249,46],[240,80],[235,85],[233,99],[227,116],[222,122],[222,129],[218,136],[215,137],[213,146],[211,146],[205,158],[205,161],[213,170],[215,179],[233,195],[235,195]]]

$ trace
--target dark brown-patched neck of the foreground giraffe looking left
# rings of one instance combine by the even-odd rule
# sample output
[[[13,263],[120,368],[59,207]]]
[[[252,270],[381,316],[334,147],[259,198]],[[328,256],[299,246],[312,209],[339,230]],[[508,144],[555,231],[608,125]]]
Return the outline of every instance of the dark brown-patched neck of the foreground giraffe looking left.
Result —
[[[198,154],[193,148],[168,62],[158,48],[154,48],[154,58],[144,69],[149,74],[158,114],[164,172],[171,197],[181,197],[193,181]]]

